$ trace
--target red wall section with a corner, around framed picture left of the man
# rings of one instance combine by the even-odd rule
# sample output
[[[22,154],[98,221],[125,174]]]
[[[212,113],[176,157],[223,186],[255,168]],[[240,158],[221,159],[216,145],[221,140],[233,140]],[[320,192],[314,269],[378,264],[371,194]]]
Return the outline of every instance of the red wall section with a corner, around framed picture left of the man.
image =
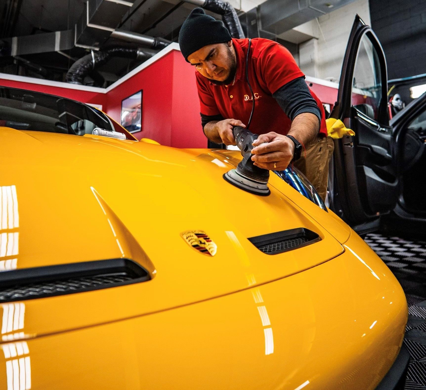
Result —
[[[207,147],[201,129],[194,69],[172,50],[107,93],[106,113],[120,123],[121,101],[143,90],[141,132],[173,147]]]

